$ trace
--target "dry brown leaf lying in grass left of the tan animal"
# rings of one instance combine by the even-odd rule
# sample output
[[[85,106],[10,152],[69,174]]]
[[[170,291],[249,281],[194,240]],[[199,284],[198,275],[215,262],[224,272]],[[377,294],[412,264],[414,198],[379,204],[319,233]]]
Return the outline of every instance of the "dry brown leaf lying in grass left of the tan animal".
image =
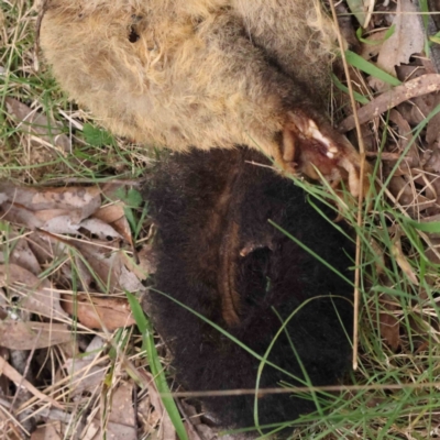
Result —
[[[70,141],[63,134],[62,124],[47,120],[44,114],[32,110],[16,99],[7,97],[4,101],[8,113],[19,123],[21,130],[41,138],[45,143],[58,146],[63,152],[70,150]]]

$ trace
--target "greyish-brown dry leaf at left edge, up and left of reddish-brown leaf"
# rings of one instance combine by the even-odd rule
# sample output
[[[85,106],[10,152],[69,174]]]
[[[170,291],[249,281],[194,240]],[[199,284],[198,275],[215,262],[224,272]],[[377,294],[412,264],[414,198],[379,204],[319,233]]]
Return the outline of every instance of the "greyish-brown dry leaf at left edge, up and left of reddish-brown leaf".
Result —
[[[10,295],[20,296],[21,308],[52,319],[67,315],[59,306],[59,293],[48,279],[38,279],[16,264],[0,265],[0,287],[8,287]]]

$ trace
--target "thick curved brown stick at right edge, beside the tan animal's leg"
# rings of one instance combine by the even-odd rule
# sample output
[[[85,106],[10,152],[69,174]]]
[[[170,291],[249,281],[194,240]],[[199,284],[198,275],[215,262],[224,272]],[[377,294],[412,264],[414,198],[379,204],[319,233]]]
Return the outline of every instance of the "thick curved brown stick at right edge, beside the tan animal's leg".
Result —
[[[394,87],[392,90],[385,91],[366,106],[359,109],[359,122],[361,124],[365,123],[408,99],[439,90],[440,75],[438,74],[428,74],[419,78],[410,79],[400,86]],[[354,117],[349,116],[339,125],[339,131],[344,133],[352,129],[354,129]]]

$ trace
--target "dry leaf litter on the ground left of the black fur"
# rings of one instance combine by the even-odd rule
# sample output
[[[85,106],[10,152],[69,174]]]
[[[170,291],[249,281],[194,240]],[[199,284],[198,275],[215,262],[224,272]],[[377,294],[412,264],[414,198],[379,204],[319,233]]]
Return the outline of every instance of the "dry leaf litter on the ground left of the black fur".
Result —
[[[124,290],[141,297],[145,292],[142,282],[148,275],[136,263],[124,205],[120,200],[109,202],[108,194],[105,186],[35,188],[0,183],[2,223],[9,224],[0,253],[1,345],[10,353],[38,350],[46,352],[45,356],[63,359],[53,386],[42,393],[22,375],[23,367],[20,372],[0,358],[3,377],[20,385],[15,393],[25,389],[30,394],[22,405],[31,408],[32,398],[37,397],[38,406],[50,402],[63,410],[62,420],[51,419],[51,413],[40,415],[34,408],[34,424],[40,420],[45,426],[31,438],[53,436],[53,424],[56,438],[62,438],[59,435],[67,435],[74,422],[81,427],[76,436],[80,439],[100,439],[105,431],[116,438],[136,438],[138,415],[132,403],[135,385],[122,369],[112,372],[106,386],[107,393],[111,389],[107,396],[109,414],[84,419],[77,413],[89,395],[102,396],[113,363],[106,354],[111,348],[111,332],[128,331],[134,324]],[[151,252],[147,243],[145,246]],[[144,252],[142,245],[139,250]],[[90,343],[85,353],[96,355],[78,358],[80,345],[91,334],[98,345]],[[41,369],[47,370],[50,365],[45,364]],[[33,380],[41,385],[38,378]],[[77,410],[67,409],[63,398],[66,393]],[[19,410],[16,424],[28,416],[29,411]],[[2,421],[6,432],[16,424]]]

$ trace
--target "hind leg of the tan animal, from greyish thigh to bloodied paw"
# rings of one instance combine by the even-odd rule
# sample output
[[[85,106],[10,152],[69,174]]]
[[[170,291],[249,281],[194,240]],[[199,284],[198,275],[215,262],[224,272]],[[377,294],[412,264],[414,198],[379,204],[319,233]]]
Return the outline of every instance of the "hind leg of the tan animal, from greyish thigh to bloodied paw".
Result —
[[[344,182],[358,196],[360,155],[322,118],[331,88],[337,36],[331,19],[319,3],[317,0],[232,0],[250,41],[290,79],[285,88],[290,99],[285,102],[287,117],[282,141],[275,142],[273,154],[277,165],[287,173],[299,172],[312,179],[322,175],[332,185]],[[367,189],[366,179],[362,186]]]

